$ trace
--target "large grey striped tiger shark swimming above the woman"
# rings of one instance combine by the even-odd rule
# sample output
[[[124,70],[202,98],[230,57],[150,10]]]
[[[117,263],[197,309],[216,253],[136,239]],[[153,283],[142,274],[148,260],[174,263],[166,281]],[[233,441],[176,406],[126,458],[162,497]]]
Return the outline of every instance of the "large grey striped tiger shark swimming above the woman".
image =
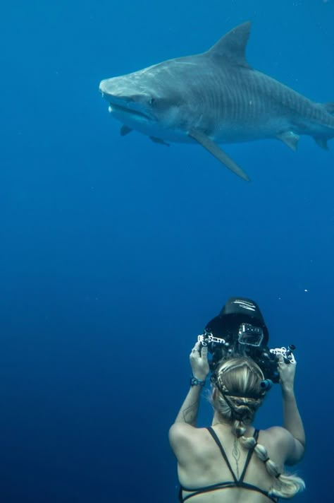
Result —
[[[293,150],[299,136],[321,148],[334,137],[334,102],[317,103],[252,69],[245,49],[251,23],[237,26],[208,51],[169,59],[101,81],[109,112],[157,143],[199,143],[245,180],[219,143],[277,138]]]

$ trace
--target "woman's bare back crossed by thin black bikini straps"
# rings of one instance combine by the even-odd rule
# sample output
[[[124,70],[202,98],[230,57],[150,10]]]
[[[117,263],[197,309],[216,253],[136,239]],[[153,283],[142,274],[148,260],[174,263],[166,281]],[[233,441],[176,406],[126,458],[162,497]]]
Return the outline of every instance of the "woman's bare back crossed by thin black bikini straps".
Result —
[[[214,425],[213,430],[223,446],[235,478],[240,480],[245,463],[247,463],[247,456],[252,453],[242,447],[240,441],[231,433],[230,425]],[[268,455],[279,466],[283,466],[285,458],[280,437],[284,431],[279,432],[279,430],[283,429],[261,430],[259,443],[266,446]],[[253,434],[254,428],[249,427],[245,432],[245,437],[252,437]],[[183,487],[197,489],[219,483],[234,483],[233,474],[228,468],[221,450],[206,428],[194,430],[187,441],[186,448],[183,446],[182,450],[183,455],[178,458],[178,475]],[[255,487],[253,489],[250,487],[223,487],[194,495],[191,497],[191,501],[194,503],[268,503],[275,500],[260,492],[261,490],[264,492],[270,490],[273,478],[266,471],[263,461],[260,461],[254,454],[249,458],[243,482]],[[256,491],[256,487],[259,488],[259,491]],[[183,490],[183,498],[192,495],[192,493],[193,491]]]

